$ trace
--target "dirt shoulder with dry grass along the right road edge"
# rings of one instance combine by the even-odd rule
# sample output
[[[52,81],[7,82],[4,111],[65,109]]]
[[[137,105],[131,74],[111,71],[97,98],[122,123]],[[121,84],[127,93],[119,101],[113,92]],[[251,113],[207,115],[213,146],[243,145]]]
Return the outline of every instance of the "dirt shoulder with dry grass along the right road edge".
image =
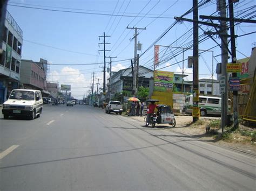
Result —
[[[131,118],[145,123],[144,116]],[[209,130],[210,132],[206,133],[206,127],[209,126],[210,123],[214,124],[218,122],[216,121],[217,119],[220,119],[220,117],[200,117],[200,121],[192,123],[191,116],[176,116],[175,128],[172,128],[169,124],[157,124],[156,128],[168,128],[166,129],[167,131],[181,133],[198,140],[204,140],[208,143],[229,147],[234,150],[256,154],[256,143],[252,143],[251,138],[248,136],[242,136],[240,133],[231,133],[232,135],[228,135],[228,138],[220,139],[217,133],[219,129],[218,125],[216,125],[215,128],[212,126]]]

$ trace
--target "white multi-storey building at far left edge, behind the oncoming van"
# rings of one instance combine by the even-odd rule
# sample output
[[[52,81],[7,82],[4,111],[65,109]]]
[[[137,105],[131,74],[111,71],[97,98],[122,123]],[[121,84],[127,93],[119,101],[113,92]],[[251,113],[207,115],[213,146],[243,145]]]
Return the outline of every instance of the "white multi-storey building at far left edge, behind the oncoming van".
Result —
[[[9,96],[12,89],[19,87],[22,58],[22,30],[11,14],[6,11],[2,58],[0,60],[0,104]]]

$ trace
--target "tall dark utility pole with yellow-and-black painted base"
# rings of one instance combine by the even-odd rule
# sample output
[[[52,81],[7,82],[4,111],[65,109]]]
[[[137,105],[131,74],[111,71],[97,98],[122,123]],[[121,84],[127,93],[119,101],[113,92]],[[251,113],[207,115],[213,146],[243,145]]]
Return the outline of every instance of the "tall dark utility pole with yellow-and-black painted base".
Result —
[[[200,116],[198,69],[198,0],[193,0],[193,122],[198,121]]]

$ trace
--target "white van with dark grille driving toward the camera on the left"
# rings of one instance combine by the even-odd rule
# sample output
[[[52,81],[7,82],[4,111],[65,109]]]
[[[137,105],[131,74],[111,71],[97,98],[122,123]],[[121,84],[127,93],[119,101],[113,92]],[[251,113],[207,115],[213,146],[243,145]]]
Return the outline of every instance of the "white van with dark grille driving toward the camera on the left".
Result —
[[[24,116],[34,119],[40,117],[43,110],[43,98],[40,90],[14,89],[9,99],[4,102],[2,113],[4,119],[9,116]]]

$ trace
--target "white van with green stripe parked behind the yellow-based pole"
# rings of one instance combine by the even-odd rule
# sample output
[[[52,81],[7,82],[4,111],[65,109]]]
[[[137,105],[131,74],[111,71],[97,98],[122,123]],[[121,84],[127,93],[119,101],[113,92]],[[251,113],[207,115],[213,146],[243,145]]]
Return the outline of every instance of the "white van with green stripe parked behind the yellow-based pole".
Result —
[[[199,95],[198,105],[200,109],[200,116],[206,116],[207,114],[213,114],[213,115],[221,114],[221,97]],[[192,95],[186,96],[184,110],[186,113],[192,114],[192,110],[193,110]],[[230,110],[230,100],[228,100],[228,110]]]

